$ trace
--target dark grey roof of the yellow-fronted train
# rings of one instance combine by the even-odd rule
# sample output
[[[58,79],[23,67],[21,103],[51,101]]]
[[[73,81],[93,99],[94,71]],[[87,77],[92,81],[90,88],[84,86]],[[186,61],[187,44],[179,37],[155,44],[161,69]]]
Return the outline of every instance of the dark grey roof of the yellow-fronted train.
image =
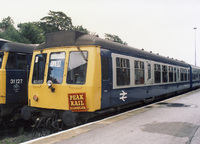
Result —
[[[119,44],[117,42],[101,39],[99,37],[91,36],[77,31],[59,31],[48,33],[46,34],[46,42],[36,47],[36,49],[84,45],[96,45],[100,46],[103,49],[116,51],[119,54],[125,54],[139,58],[144,58],[147,60],[189,67],[189,64],[182,61],[170,59],[164,56],[160,56],[158,54],[150,53],[144,50]]]

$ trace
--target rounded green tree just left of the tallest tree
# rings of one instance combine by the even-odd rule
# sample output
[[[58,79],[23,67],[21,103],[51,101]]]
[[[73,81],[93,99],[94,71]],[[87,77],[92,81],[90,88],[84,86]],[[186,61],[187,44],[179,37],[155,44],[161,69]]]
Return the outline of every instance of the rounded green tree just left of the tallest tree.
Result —
[[[45,37],[43,30],[39,28],[38,23],[28,22],[18,25],[21,37],[28,39],[32,44],[40,44],[44,42]]]

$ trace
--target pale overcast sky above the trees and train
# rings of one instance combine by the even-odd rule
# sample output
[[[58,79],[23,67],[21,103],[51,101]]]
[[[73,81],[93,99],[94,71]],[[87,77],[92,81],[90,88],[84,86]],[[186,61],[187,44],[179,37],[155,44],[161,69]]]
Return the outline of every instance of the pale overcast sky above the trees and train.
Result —
[[[101,38],[117,35],[131,47],[193,65],[196,45],[200,66],[200,0],[4,0],[0,21],[36,22],[49,10],[64,12],[73,25]]]

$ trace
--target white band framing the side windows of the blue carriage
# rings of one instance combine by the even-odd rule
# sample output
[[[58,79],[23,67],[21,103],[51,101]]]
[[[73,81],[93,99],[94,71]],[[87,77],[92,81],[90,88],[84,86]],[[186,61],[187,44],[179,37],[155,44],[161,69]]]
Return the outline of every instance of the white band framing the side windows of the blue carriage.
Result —
[[[113,69],[113,89],[120,89],[120,88],[131,88],[131,87],[142,87],[142,86],[154,86],[154,85],[167,85],[167,84],[173,84],[173,83],[184,83],[184,82],[189,82],[189,79],[187,78],[187,81],[180,81],[180,69],[186,69],[187,71],[190,69],[190,67],[184,67],[184,66],[177,66],[175,64],[167,64],[167,63],[162,63],[162,62],[157,62],[153,60],[147,60],[147,59],[142,59],[142,58],[137,58],[137,57],[132,57],[132,56],[127,56],[127,55],[122,55],[122,54],[117,54],[117,53],[112,53],[112,69]],[[130,60],[130,85],[125,85],[125,86],[117,86],[116,85],[116,57],[121,57],[125,59]],[[135,63],[134,61],[142,61],[144,62],[144,67],[145,67],[145,82],[144,84],[135,84]],[[151,65],[151,70],[148,70],[148,64]],[[155,68],[155,65],[157,68]],[[162,71],[162,66],[167,67],[167,82],[162,81],[163,77],[163,71]],[[169,81],[169,68],[171,68],[171,80]],[[151,79],[148,79],[148,73],[151,71]],[[155,74],[155,72],[158,72],[158,75]],[[173,76],[172,76],[173,75]],[[157,82],[156,82],[156,76]],[[173,81],[172,81],[173,78]]]

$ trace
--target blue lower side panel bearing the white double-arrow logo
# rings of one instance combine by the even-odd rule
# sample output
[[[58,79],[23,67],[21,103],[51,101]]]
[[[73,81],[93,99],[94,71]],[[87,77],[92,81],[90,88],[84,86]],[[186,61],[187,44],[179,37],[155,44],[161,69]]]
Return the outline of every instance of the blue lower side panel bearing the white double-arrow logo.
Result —
[[[111,92],[111,105],[117,106],[128,104],[136,101],[141,101],[147,98],[153,98],[176,91],[181,91],[190,88],[190,83],[169,84],[169,85],[154,85],[144,87],[133,87],[123,89],[113,89]],[[124,94],[124,99],[123,99]]]

